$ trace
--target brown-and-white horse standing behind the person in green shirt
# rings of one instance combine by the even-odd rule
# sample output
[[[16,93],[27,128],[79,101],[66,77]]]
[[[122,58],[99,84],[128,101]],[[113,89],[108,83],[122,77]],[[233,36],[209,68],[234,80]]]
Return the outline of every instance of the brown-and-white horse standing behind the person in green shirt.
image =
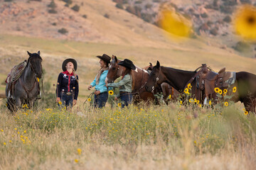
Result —
[[[117,60],[116,56],[112,56],[112,61],[110,62],[110,69],[107,73],[106,77],[106,84],[112,83],[114,80],[116,80],[118,77],[121,77],[123,74],[122,67],[119,67],[118,63],[121,62],[121,60]],[[141,69],[139,67],[136,67],[135,70],[132,70],[132,76],[134,77],[133,82],[133,90],[132,94],[134,96],[134,102],[138,103],[140,100],[142,101],[154,101],[154,94],[156,93],[163,93],[164,100],[167,102],[169,94],[178,94],[178,91],[171,88],[168,84],[162,84],[158,89],[154,90],[154,94],[151,93],[151,91],[146,91],[145,84],[147,79],[149,79],[149,71],[146,69]],[[171,95],[174,96],[174,95]],[[174,97],[172,97],[174,98]],[[157,101],[158,102],[158,101]]]

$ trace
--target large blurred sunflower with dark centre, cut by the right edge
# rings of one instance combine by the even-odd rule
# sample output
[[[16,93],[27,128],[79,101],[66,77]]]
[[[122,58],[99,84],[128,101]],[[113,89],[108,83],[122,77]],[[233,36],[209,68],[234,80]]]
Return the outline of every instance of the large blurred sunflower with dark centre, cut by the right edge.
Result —
[[[242,38],[256,40],[256,7],[245,5],[235,13],[235,31]]]

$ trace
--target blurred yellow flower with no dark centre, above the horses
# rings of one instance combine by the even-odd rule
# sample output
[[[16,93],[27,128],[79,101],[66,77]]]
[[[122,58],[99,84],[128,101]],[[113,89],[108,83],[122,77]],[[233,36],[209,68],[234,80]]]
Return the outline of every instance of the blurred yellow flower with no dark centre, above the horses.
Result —
[[[166,9],[162,10],[160,15],[159,23],[161,28],[174,35],[174,38],[175,35],[180,37],[188,37],[190,35],[191,21],[174,11]]]

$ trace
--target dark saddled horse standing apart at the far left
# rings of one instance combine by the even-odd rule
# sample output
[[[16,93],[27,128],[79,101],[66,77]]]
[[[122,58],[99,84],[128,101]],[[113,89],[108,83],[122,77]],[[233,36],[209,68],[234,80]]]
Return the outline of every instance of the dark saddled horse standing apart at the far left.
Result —
[[[28,55],[28,60],[21,63],[23,68],[19,70],[21,67],[14,67],[6,79],[7,107],[12,112],[21,108],[22,104],[31,108],[40,92],[38,79],[41,79],[43,74],[43,60],[40,51],[33,54],[28,52]]]

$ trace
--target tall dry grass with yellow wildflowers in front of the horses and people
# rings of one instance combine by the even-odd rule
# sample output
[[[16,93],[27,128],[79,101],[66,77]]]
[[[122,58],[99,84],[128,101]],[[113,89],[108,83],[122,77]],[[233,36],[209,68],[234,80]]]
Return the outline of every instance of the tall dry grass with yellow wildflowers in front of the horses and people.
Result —
[[[255,115],[233,103],[0,112],[0,169],[256,168]]]

